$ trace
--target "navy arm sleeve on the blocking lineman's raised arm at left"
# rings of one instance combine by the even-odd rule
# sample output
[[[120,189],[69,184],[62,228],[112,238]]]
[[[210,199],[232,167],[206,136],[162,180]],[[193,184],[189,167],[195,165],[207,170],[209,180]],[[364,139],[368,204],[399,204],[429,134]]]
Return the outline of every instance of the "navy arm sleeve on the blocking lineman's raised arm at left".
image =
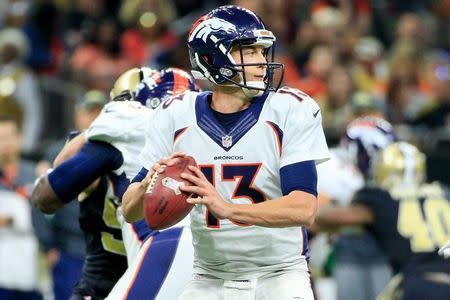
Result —
[[[75,156],[54,169],[48,181],[58,198],[67,203],[95,179],[122,164],[122,153],[110,144],[88,142]]]

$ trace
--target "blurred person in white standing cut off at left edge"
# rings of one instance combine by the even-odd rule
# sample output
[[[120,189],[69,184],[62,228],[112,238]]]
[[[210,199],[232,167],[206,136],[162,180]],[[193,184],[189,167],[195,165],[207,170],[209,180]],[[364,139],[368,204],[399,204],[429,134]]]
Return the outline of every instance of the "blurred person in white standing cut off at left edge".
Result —
[[[38,287],[38,242],[28,191],[34,164],[20,159],[18,124],[0,117],[0,298],[42,299]]]

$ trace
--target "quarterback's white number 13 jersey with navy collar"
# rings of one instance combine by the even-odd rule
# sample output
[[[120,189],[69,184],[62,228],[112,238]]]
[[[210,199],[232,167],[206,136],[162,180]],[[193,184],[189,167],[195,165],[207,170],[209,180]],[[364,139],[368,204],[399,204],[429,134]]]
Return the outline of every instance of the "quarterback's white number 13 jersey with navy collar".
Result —
[[[210,93],[188,92],[158,108],[141,153],[144,166],[174,151],[192,155],[225,201],[258,203],[282,196],[280,169],[328,158],[319,107],[283,88],[257,98],[230,131],[214,118]],[[306,229],[267,228],[191,211],[194,272],[224,279],[306,268]]]

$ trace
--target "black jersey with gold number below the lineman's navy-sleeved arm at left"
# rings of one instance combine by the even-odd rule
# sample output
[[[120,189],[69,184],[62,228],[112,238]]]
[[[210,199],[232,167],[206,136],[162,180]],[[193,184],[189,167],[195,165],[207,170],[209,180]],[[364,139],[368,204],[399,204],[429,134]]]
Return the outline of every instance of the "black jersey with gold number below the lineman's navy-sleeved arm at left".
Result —
[[[86,240],[83,275],[77,294],[105,298],[127,268],[122,231],[116,218],[118,201],[108,192],[106,176],[80,203],[80,227]]]

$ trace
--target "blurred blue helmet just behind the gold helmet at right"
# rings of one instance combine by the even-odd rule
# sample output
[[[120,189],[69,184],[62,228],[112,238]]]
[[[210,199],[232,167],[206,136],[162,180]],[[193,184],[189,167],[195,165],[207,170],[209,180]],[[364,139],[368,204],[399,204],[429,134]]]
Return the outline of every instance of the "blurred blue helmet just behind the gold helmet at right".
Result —
[[[385,147],[397,141],[392,125],[379,117],[361,117],[352,121],[340,141],[347,158],[360,172],[370,175],[371,161]]]

